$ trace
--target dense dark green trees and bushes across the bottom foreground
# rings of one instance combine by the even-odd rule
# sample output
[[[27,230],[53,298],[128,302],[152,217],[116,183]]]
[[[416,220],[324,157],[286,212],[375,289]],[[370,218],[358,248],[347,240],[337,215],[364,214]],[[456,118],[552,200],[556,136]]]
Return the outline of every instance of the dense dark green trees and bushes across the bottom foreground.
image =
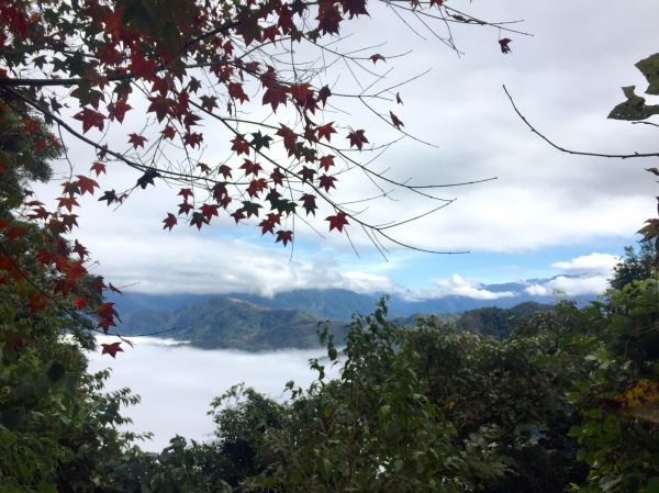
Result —
[[[434,317],[402,327],[382,301],[340,358],[321,334],[338,379],[311,361],[317,380],[289,382],[283,404],[234,386],[211,404],[213,440],[175,437],[159,455],[120,432],[137,399],[85,372],[81,345],[54,329],[67,313],[37,321],[3,296],[4,327],[32,329],[2,352],[1,491],[656,492],[656,271],[613,288],[637,261],[601,301],[513,318],[504,339]]]

